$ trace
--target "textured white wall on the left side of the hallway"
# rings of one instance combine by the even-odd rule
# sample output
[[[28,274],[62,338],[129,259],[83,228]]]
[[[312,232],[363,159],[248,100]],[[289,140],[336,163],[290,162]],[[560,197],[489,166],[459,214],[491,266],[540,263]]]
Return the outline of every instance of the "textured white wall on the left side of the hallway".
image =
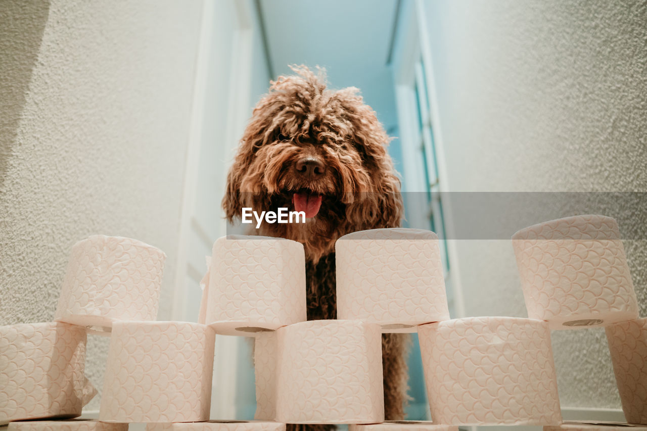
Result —
[[[51,320],[72,244],[96,233],[166,252],[170,317],[201,11],[0,3],[0,325]],[[89,338],[100,389],[107,338]]]

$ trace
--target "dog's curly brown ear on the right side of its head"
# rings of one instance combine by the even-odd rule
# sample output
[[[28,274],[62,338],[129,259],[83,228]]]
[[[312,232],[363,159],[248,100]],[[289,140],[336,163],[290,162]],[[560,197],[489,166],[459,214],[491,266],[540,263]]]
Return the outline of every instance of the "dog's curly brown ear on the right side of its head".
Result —
[[[353,225],[363,228],[399,227],[403,217],[400,179],[393,168],[393,161],[386,152],[389,137],[377,119],[375,111],[364,104],[354,87],[334,94],[344,109],[344,117],[350,122],[349,140],[362,158],[371,181],[353,203],[347,206],[346,216]]]

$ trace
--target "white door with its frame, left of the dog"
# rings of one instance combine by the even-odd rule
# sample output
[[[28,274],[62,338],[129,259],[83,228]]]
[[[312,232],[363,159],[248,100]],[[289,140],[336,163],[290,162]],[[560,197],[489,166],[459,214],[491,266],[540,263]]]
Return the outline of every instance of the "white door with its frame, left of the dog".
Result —
[[[173,320],[197,322],[215,239],[226,234],[221,201],[226,170],[250,115],[250,2],[205,1],[184,179]],[[240,337],[216,337],[212,419],[236,417],[237,367],[249,348]],[[249,368],[249,367],[247,367]],[[252,373],[253,382],[253,373]],[[253,386],[252,386],[253,397]]]

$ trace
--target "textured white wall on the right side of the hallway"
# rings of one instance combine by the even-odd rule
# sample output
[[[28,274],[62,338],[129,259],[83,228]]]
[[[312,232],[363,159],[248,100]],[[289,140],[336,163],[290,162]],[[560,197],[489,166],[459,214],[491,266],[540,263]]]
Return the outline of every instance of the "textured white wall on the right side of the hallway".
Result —
[[[424,7],[451,191],[647,191],[646,2]],[[527,316],[510,241],[458,242],[466,315]],[[625,242],[643,316],[645,242]],[[553,348],[562,406],[620,407],[603,329]]]

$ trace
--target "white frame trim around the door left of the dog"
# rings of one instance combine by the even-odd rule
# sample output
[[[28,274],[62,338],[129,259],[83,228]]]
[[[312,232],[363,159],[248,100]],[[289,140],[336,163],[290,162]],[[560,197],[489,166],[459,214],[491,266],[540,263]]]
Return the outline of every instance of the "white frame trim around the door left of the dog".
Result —
[[[232,59],[229,74],[229,92],[227,96],[226,131],[223,137],[225,142],[236,142],[241,130],[245,127],[248,116],[248,101],[250,98],[250,82],[252,68],[252,36],[253,21],[250,1],[226,0],[234,3],[236,10],[236,30],[232,35]],[[186,280],[190,272],[194,271],[188,265],[189,235],[195,230],[199,222],[193,217],[197,199],[198,168],[200,148],[203,144],[204,108],[206,102],[206,89],[210,76],[210,55],[214,41],[214,15],[217,13],[217,2],[206,0],[203,3],[203,16],[200,29],[199,47],[195,61],[195,75],[193,78],[193,100],[191,107],[191,121],[188,131],[188,146],[184,167],[184,186],[177,244],[177,258],[175,260],[175,284],[173,287],[173,304],[171,319],[186,321]],[[223,157],[228,159],[228,154]],[[217,166],[214,166],[217,169]],[[225,190],[226,166],[221,167],[221,178],[216,187]],[[226,235],[226,220],[214,220],[217,223],[217,236]],[[197,230],[206,232],[197,226]],[[215,238],[209,238],[212,243]],[[206,241],[206,239],[205,239]],[[206,268],[205,268],[206,271]],[[216,336],[216,354],[214,357],[214,374],[212,379],[212,419],[232,419],[236,417],[236,390],[237,368],[239,364],[239,343],[245,342],[241,337]],[[221,353],[221,354],[219,354]]]

